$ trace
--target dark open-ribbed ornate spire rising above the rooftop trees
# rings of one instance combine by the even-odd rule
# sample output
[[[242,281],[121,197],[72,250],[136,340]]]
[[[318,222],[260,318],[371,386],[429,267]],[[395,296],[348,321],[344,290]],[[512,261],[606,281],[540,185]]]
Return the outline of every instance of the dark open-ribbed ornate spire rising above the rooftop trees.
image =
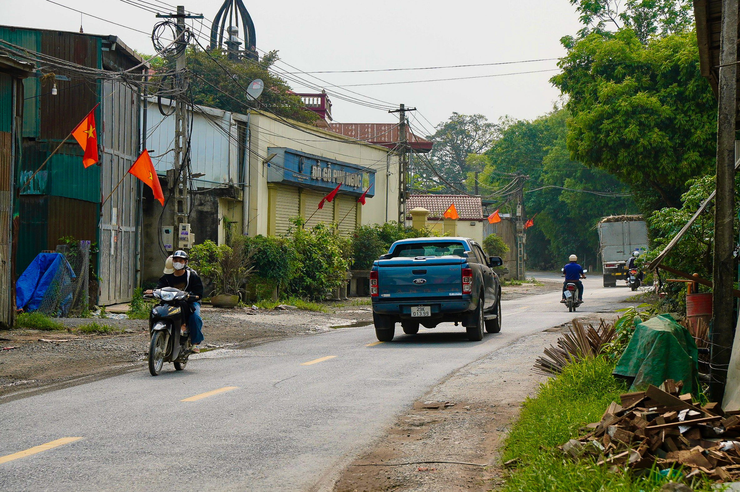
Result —
[[[226,26],[226,19],[229,24]],[[244,31],[243,40],[246,41],[243,49],[240,49],[242,42],[239,36],[239,18]],[[257,54],[257,36],[255,35],[255,24],[252,22],[252,16],[244,7],[242,0],[224,0],[223,5],[218,10],[213,24],[211,25],[211,44],[209,50],[215,48],[226,48],[229,58],[249,58],[259,60]]]

